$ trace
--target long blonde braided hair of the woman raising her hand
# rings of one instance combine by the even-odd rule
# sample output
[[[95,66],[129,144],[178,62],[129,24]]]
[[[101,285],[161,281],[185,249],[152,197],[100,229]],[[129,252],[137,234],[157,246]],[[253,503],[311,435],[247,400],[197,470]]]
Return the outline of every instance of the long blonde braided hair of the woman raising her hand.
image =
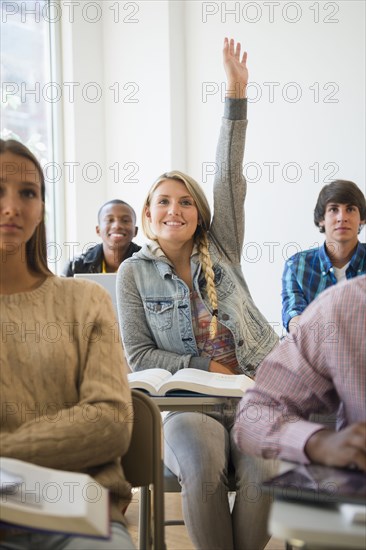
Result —
[[[207,234],[210,228],[211,223],[211,210],[208,204],[206,195],[201,188],[201,186],[190,176],[179,172],[177,170],[173,172],[166,172],[162,174],[151,186],[147,197],[145,199],[143,208],[142,208],[142,229],[148,239],[156,241],[157,238],[151,230],[149,218],[146,215],[146,210],[151,204],[151,199],[155,193],[158,186],[165,180],[176,180],[180,183],[183,183],[189,194],[193,197],[195,205],[198,210],[199,222],[197,225],[196,232],[194,234],[194,242],[198,247],[200,264],[202,266],[203,274],[206,279],[206,288],[207,295],[212,307],[212,320],[210,323],[209,331],[210,337],[213,338],[217,332],[217,316],[218,316],[218,302],[217,302],[217,292],[215,287],[215,273],[212,268],[212,260],[208,247],[208,238]]]

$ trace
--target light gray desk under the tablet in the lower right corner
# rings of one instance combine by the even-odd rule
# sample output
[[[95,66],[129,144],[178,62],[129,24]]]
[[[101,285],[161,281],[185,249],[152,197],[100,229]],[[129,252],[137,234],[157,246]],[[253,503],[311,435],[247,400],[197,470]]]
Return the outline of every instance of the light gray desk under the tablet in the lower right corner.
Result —
[[[295,547],[294,539],[304,541],[309,550],[312,547],[364,550],[366,545],[366,526],[349,523],[338,510],[277,499],[271,508],[269,532]]]

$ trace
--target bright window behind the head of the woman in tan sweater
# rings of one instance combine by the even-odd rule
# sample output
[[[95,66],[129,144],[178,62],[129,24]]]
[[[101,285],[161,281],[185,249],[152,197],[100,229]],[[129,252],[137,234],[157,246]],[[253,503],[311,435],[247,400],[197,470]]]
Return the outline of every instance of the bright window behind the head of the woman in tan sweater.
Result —
[[[24,143],[46,168],[47,240],[56,243],[56,120],[60,102],[54,84],[59,64],[58,25],[49,0],[0,0],[1,4],[1,137]],[[55,4],[53,1],[52,4]],[[57,128],[59,128],[59,124]],[[53,250],[51,246],[50,251]],[[55,261],[48,254],[50,268]],[[53,260],[53,261],[52,261]]]

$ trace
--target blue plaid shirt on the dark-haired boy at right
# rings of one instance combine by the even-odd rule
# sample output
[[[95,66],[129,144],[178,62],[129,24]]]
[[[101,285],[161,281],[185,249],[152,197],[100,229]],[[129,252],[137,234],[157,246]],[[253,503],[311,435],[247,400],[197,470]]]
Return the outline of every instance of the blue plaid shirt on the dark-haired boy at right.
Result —
[[[366,244],[359,242],[347,267],[346,278],[352,279],[365,273]],[[282,322],[286,330],[292,317],[301,315],[318,294],[336,283],[325,243],[319,248],[291,256],[285,263],[282,275]]]

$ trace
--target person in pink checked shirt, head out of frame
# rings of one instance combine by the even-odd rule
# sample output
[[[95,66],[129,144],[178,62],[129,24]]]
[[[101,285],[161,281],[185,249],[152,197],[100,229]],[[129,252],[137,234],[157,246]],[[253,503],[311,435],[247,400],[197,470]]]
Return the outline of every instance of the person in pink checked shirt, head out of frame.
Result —
[[[324,291],[261,363],[241,400],[244,453],[366,470],[366,275]],[[316,421],[335,414],[337,428]]]

